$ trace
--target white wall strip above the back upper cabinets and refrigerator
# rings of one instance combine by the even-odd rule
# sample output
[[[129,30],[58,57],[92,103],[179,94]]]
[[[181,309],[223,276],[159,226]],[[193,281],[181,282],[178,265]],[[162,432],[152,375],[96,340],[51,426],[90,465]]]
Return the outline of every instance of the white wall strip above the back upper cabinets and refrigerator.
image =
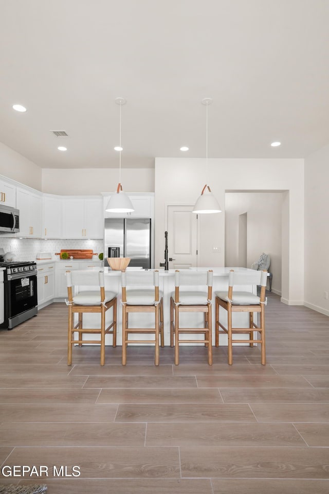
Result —
[[[63,196],[95,196],[114,192],[119,182],[118,168],[42,170],[42,191]],[[124,192],[154,192],[154,169],[121,168]]]

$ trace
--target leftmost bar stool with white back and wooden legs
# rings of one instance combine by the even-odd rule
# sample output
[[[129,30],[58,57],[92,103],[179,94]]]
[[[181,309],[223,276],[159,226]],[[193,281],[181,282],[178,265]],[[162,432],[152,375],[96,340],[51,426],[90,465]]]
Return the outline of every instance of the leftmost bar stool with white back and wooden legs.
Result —
[[[72,364],[72,345],[98,344],[101,347],[100,364],[105,364],[105,334],[113,335],[113,347],[117,338],[117,293],[105,291],[103,271],[66,271],[68,300],[68,349],[67,365]],[[83,287],[82,290],[79,287]],[[84,289],[87,287],[87,289]],[[92,290],[88,290],[88,288]],[[99,290],[96,290],[98,287]],[[74,294],[74,292],[76,292]],[[113,321],[105,328],[105,313],[113,308]],[[99,328],[84,328],[82,315],[84,313],[98,313],[101,315]],[[74,314],[79,314],[78,323],[74,324]],[[75,339],[78,333],[78,339]],[[83,340],[83,333],[100,334],[100,339]]]

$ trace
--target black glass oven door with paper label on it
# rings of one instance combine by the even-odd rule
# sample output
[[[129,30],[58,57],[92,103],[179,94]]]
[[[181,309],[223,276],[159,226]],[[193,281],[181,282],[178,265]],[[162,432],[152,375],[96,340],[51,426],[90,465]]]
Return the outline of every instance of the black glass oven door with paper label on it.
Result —
[[[36,273],[13,273],[6,283],[8,319],[38,306]]]

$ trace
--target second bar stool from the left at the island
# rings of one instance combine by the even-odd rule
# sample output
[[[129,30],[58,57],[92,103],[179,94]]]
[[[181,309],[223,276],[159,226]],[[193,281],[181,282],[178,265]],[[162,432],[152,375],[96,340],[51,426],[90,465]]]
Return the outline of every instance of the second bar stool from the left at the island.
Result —
[[[159,291],[159,271],[121,272],[122,287],[122,365],[127,360],[129,343],[154,343],[155,365],[159,365],[159,340],[165,346],[163,338],[163,294]],[[129,287],[129,288],[127,288]],[[130,288],[134,287],[134,288]],[[129,327],[131,312],[151,312],[154,314],[154,326],[151,328]],[[132,340],[129,334],[154,334],[154,340]]]

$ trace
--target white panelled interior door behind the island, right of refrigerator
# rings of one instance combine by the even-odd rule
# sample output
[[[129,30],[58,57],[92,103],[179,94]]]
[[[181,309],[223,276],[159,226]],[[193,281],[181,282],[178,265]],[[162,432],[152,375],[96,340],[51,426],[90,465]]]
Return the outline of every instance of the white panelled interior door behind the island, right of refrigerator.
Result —
[[[193,206],[168,206],[168,257],[170,269],[197,266],[197,215]]]

